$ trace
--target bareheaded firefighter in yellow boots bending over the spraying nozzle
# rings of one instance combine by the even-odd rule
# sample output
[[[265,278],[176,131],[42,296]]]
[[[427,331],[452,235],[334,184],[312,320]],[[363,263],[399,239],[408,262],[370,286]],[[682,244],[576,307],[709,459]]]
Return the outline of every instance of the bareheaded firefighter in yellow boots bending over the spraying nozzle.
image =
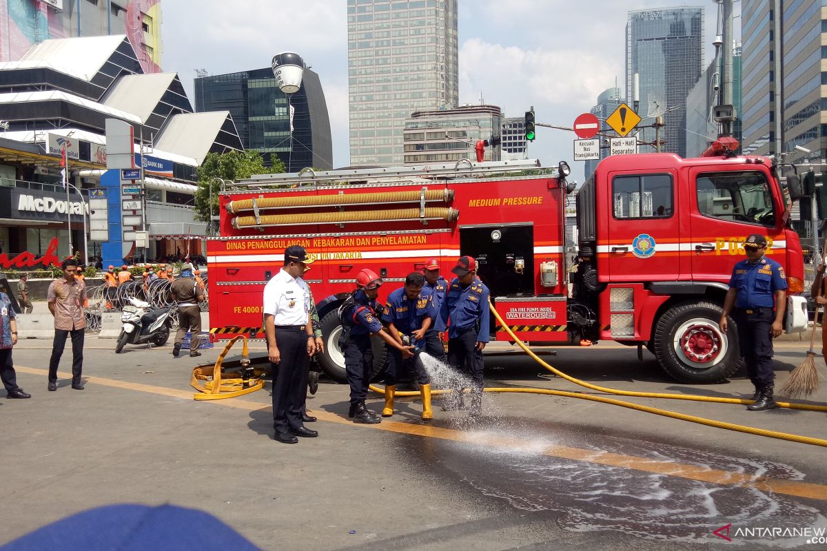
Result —
[[[433,297],[423,291],[424,282],[423,274],[409,273],[405,278],[405,286],[399,287],[388,296],[382,321],[388,324],[390,335],[399,345],[404,346],[402,335],[407,335],[414,349],[417,345],[422,346],[425,335],[437,316],[437,311],[433,307]],[[411,368],[416,373],[419,392],[422,394],[422,419],[432,420],[431,378],[418,354],[404,360],[399,349],[390,349],[390,364],[385,373],[385,409],[382,410],[382,416],[394,415],[396,382],[405,368]]]

